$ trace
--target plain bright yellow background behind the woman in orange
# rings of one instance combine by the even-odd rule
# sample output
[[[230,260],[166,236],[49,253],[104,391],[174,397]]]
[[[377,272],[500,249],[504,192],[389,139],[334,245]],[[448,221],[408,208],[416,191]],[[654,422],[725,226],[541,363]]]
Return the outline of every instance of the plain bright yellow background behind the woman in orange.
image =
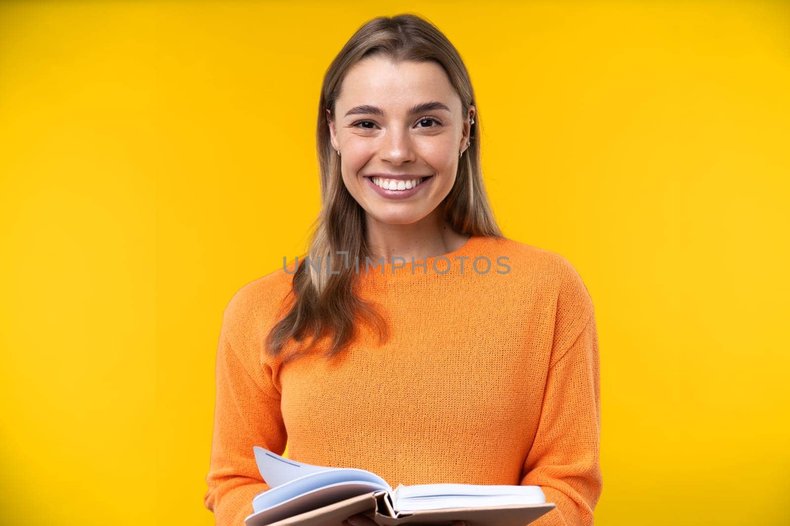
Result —
[[[213,524],[222,310],[302,253],[322,75],[402,12],[596,304],[596,524],[790,523],[787,2],[2,2],[3,524]]]

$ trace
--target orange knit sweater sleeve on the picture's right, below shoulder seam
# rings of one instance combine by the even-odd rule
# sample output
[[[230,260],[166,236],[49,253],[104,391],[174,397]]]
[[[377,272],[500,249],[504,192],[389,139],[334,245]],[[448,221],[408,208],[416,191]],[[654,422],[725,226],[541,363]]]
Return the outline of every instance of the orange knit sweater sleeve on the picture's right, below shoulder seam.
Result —
[[[594,313],[548,371],[522,486],[540,486],[555,509],[530,526],[588,526],[600,498],[600,375]]]

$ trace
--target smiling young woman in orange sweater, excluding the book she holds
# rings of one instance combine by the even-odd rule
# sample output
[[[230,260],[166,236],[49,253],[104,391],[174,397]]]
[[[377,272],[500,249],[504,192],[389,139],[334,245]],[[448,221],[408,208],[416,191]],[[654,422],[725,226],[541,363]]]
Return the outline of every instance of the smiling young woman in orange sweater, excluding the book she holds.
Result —
[[[592,524],[602,488],[592,300],[562,256],[502,236],[457,50],[422,18],[364,24],[318,106],[308,259],[224,311],[205,505],[240,526],[253,446],[393,487],[537,485],[532,524]],[[361,515],[345,524],[374,524]]]

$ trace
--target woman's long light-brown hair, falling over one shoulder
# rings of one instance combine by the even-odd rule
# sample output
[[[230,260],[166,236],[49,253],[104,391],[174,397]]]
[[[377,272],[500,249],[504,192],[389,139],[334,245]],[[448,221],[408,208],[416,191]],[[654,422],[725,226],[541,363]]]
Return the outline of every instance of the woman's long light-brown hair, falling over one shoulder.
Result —
[[[348,251],[348,260],[360,262],[373,258],[367,243],[364,210],[345,188],[340,173],[340,158],[329,140],[329,121],[335,118],[335,101],[346,72],[363,58],[381,55],[393,62],[434,61],[450,77],[450,83],[461,98],[461,114],[476,106],[475,121],[470,131],[471,143],[458,161],[455,184],[439,206],[450,226],[465,236],[502,237],[495,222],[480,170],[480,106],[477,105],[472,81],[460,54],[431,22],[410,13],[395,17],[376,17],[363,24],[344,45],[326,70],[318,102],[316,147],[321,170],[322,208],[313,223],[307,257],[309,264],[298,264],[292,282],[290,311],[276,323],[265,338],[270,356],[280,354],[293,338],[303,344],[284,357],[284,362],[305,354],[322,338],[332,338],[325,353],[327,360],[342,352],[354,340],[357,323],[368,323],[378,330],[379,342],[389,339],[389,329],[375,304],[367,303],[353,293],[356,274],[354,265],[345,268],[345,258],[337,251]],[[325,264],[328,256],[332,272]],[[355,259],[357,258],[357,259]],[[314,262],[320,262],[316,265]]]

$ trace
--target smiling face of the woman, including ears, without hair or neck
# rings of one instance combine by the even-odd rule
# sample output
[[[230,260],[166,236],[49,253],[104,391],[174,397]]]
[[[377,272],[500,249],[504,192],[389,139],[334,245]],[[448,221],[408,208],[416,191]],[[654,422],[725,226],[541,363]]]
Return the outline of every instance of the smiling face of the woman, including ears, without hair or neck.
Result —
[[[453,188],[474,112],[461,115],[435,62],[371,57],[348,70],[329,130],[343,182],[368,220],[409,224],[438,207]]]

